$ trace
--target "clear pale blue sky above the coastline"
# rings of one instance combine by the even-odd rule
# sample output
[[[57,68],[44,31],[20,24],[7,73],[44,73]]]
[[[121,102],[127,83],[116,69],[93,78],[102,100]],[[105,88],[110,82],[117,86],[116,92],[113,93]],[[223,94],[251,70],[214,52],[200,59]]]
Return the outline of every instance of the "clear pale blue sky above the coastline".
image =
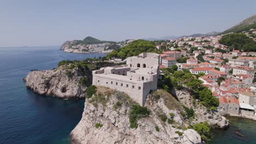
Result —
[[[0,47],[224,31],[253,14],[255,0],[0,0]]]

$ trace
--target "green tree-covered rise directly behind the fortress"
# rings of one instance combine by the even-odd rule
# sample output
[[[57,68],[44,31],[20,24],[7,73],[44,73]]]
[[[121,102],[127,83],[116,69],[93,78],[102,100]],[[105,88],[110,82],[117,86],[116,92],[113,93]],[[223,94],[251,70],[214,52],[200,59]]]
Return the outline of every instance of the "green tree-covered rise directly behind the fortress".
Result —
[[[119,57],[121,59],[125,59],[126,57],[138,56],[139,53],[142,53],[142,52],[160,53],[160,51],[156,49],[152,41],[140,39],[140,40],[132,41],[132,43],[122,47],[121,49],[117,49],[108,53],[107,59],[112,57]]]

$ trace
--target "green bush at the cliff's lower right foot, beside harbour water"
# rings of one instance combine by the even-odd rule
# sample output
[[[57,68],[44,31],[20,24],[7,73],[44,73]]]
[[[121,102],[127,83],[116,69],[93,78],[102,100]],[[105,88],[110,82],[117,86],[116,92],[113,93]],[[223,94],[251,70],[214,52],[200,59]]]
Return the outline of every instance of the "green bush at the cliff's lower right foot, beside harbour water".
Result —
[[[194,125],[194,130],[200,134],[203,141],[208,143],[211,140],[210,135],[210,125],[207,122],[196,123]]]

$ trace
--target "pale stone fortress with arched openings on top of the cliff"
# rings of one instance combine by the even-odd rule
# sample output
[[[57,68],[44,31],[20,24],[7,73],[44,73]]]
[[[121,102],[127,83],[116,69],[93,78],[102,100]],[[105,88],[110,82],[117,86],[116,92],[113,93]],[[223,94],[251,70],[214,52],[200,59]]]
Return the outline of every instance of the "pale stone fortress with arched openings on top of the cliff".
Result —
[[[143,106],[150,91],[156,91],[159,76],[159,55],[141,53],[126,58],[126,64],[92,71],[92,85],[125,92]]]

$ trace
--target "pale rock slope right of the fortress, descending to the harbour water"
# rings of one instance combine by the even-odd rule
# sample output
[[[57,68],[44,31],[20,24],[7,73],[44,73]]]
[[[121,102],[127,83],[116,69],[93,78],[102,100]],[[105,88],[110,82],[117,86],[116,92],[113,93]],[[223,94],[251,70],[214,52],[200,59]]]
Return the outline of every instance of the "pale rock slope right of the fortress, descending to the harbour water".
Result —
[[[195,111],[192,124],[208,122],[211,128],[226,129],[229,127],[229,121],[223,116],[220,116],[218,111],[207,111],[205,106],[200,106],[198,102],[193,104],[193,97],[186,91],[176,91],[179,102]]]

